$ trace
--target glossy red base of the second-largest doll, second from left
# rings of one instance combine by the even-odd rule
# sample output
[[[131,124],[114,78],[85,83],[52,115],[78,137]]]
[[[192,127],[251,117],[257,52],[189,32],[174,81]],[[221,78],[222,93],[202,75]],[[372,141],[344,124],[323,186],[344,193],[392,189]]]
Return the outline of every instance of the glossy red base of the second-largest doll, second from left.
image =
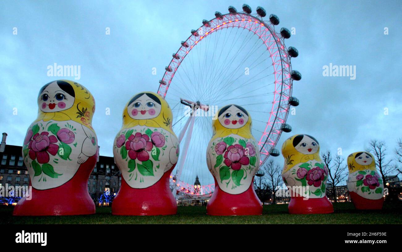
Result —
[[[113,215],[172,215],[177,203],[169,188],[169,177],[174,167],[164,173],[154,185],[136,189],[121,177],[121,188],[112,203]]]

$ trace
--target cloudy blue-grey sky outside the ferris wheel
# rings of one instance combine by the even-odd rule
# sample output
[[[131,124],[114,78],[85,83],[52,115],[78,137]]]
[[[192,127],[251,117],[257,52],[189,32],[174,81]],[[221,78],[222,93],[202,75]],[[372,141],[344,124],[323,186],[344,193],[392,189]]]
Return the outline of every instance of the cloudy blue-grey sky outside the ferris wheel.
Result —
[[[121,128],[121,111],[139,91],[157,91],[164,67],[180,41],[201,20],[214,18],[244,1],[1,1],[0,131],[7,144],[21,145],[37,117],[37,93],[49,77],[47,66],[80,65],[79,83],[96,99],[93,126],[100,154],[112,156]],[[286,41],[299,50],[293,69],[302,74],[293,96],[300,100],[289,115],[293,134],[317,138],[321,150],[343,156],[364,150],[370,139],[385,140],[394,154],[402,137],[401,1],[248,1],[295,28]],[[253,11],[255,12],[255,11]],[[267,18],[265,18],[267,19]],[[17,35],[13,35],[13,28]],[[105,28],[110,27],[110,35]],[[388,28],[388,35],[384,28]],[[355,65],[356,78],[324,77],[323,66]],[[156,67],[157,74],[152,75]],[[13,114],[13,108],[18,114]],[[111,114],[106,115],[105,109]],[[388,115],[384,109],[388,108]],[[256,119],[256,116],[253,117]],[[258,118],[264,120],[264,118]],[[178,132],[176,132],[178,134]],[[280,157],[275,158],[283,162]],[[207,167],[205,167],[207,169]],[[203,183],[203,181],[201,181]]]

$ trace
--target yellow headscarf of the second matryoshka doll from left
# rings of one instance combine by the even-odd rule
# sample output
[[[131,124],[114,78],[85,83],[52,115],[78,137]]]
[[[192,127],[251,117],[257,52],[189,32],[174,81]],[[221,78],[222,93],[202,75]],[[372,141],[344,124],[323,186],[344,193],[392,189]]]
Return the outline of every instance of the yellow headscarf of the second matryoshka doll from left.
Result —
[[[139,125],[139,126],[148,126],[148,127],[154,127],[154,128],[164,128],[165,130],[174,134],[174,132],[172,130],[173,114],[172,114],[172,110],[170,109],[169,104],[166,102],[166,100],[163,99],[162,96],[160,96],[154,92],[145,91],[145,92],[141,92],[141,93],[144,93],[144,94],[150,93],[159,98],[160,107],[161,107],[159,115],[152,119],[142,119],[142,120],[133,119],[129,116],[129,114],[127,112],[127,107],[129,106],[129,102],[130,102],[130,101],[128,101],[127,104],[124,106],[124,110],[123,110],[122,129],[132,128],[134,126]],[[134,96],[137,96],[138,94],[140,94],[140,93],[137,93]],[[131,97],[131,99],[133,99],[133,97]]]

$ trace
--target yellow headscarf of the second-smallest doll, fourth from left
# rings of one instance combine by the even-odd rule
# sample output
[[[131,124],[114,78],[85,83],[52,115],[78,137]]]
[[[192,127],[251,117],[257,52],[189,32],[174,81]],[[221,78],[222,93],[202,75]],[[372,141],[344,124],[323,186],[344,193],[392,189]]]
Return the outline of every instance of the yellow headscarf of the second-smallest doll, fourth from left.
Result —
[[[282,145],[282,155],[285,158],[285,165],[283,167],[282,173],[289,171],[293,166],[299,163],[305,163],[310,160],[321,161],[320,145],[318,144],[318,142],[318,150],[314,154],[303,154],[295,149],[295,147],[293,146],[293,139],[299,135],[301,134],[297,134],[287,138]]]

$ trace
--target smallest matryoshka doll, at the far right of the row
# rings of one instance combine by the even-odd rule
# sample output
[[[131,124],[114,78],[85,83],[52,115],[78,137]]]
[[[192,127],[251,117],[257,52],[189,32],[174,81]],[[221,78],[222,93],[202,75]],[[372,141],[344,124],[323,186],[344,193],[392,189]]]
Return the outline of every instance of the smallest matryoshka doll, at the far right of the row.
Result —
[[[348,156],[348,190],[356,209],[382,209],[384,183],[375,169],[374,156],[354,152]]]

